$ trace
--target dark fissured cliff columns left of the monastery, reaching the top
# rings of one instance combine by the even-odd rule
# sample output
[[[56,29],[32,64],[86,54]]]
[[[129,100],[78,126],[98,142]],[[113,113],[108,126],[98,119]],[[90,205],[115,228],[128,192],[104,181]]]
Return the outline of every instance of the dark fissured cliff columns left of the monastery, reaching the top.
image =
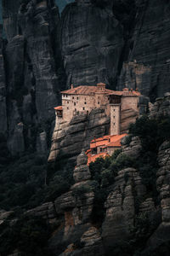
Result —
[[[54,107],[59,105],[58,92],[63,86],[58,80],[62,66],[59,12],[53,1],[31,0],[16,4],[15,9],[12,7],[10,1],[3,3],[4,24],[5,17],[14,15],[16,8],[18,15],[13,30],[8,23],[10,19],[4,27],[8,39],[4,50],[7,100],[2,100],[1,123],[7,123],[6,100],[10,152],[18,154],[25,148],[33,148],[46,154],[54,124]],[[23,130],[18,136],[20,123]]]

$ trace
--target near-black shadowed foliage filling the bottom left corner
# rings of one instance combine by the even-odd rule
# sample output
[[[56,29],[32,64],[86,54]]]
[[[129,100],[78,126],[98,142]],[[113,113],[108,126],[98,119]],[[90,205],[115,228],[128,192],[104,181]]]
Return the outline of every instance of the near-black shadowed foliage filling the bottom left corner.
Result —
[[[1,225],[0,254],[6,256],[17,250],[20,255],[52,256],[48,249],[48,238],[52,232],[42,218],[22,217],[14,224]]]

